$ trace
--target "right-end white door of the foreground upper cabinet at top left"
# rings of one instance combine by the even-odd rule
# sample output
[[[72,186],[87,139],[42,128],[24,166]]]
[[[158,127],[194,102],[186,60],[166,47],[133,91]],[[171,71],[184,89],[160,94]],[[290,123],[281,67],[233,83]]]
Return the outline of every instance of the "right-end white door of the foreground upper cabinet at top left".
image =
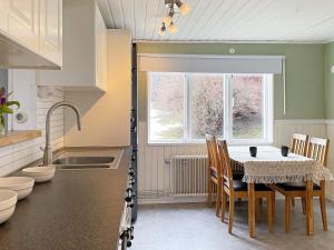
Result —
[[[62,0],[40,0],[40,53],[62,64]]]

